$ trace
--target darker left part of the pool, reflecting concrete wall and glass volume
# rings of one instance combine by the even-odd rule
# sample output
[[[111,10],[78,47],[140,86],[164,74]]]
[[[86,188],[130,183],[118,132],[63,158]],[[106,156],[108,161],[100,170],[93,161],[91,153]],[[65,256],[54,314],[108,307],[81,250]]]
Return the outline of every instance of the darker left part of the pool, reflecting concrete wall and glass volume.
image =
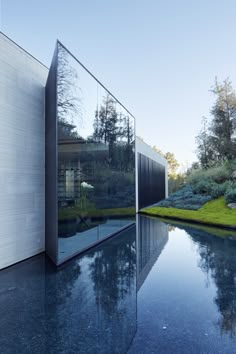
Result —
[[[1,353],[126,353],[136,331],[136,228],[58,271],[44,256],[0,273]]]

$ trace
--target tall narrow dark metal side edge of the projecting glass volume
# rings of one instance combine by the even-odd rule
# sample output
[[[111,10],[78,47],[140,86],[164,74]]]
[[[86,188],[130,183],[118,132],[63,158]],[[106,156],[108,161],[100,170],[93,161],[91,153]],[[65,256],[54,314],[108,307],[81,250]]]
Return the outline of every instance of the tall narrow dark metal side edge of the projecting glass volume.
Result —
[[[46,253],[57,264],[57,51],[46,84],[45,114],[45,238]]]

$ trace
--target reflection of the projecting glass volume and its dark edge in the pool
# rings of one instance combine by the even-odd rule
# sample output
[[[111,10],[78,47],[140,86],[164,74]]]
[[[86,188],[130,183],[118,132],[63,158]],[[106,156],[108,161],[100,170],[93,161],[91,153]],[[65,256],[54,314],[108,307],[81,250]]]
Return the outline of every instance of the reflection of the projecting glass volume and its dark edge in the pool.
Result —
[[[46,338],[55,352],[125,353],[136,330],[135,228],[56,273],[48,264]]]

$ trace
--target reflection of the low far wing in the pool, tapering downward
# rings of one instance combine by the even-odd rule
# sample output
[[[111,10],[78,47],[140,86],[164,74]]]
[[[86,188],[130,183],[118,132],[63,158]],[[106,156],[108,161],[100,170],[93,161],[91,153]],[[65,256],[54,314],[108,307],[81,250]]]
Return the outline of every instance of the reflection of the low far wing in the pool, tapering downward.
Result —
[[[168,225],[157,219],[139,215],[137,239],[137,290],[139,290],[168,241]]]

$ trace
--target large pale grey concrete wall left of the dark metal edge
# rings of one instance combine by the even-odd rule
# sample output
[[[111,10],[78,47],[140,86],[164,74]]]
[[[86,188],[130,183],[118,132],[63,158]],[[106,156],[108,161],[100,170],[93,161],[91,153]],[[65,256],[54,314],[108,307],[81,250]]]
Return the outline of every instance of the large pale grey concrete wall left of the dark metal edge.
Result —
[[[0,269],[45,249],[47,75],[0,32]]]

